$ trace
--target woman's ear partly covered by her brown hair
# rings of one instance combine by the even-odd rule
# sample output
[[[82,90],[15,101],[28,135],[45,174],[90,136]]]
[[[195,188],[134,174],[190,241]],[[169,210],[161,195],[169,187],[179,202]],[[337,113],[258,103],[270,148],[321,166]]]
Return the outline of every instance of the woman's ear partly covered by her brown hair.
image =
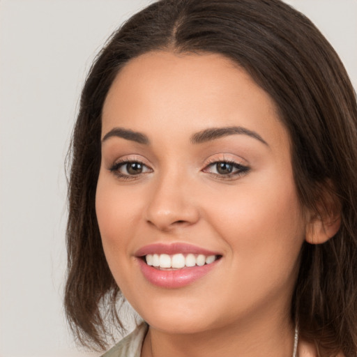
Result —
[[[319,213],[308,218],[305,241],[321,244],[335,236],[341,225],[341,205],[337,197],[326,190],[325,197],[317,206]]]

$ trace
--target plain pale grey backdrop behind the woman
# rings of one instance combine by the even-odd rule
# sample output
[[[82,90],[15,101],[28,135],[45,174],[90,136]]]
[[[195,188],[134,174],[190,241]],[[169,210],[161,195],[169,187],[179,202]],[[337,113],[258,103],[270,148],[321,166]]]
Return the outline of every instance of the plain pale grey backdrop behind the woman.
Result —
[[[148,0],[0,1],[0,356],[75,349],[63,316],[64,160],[93,57]],[[357,87],[357,1],[289,0]]]

